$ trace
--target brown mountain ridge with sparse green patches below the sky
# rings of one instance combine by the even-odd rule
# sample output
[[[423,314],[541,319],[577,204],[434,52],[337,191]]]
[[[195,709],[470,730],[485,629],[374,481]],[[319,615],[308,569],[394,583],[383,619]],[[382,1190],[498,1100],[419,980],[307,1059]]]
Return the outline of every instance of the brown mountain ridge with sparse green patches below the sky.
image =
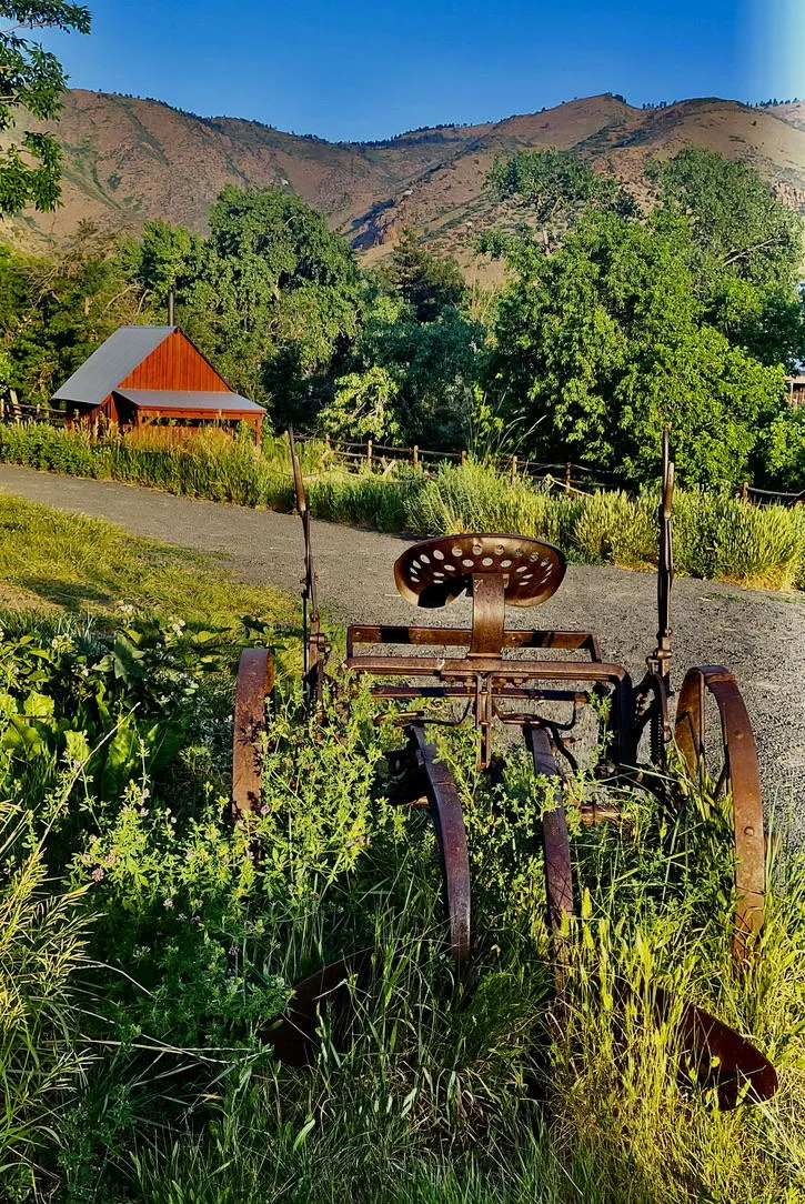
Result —
[[[235,183],[297,193],[368,259],[386,254],[412,225],[430,246],[467,260],[470,237],[495,216],[486,171],[497,157],[523,147],[573,149],[643,199],[650,197],[647,157],[710,147],[752,163],[787,205],[805,212],[805,102],[750,108],[699,99],[640,110],[606,94],[483,125],[434,126],[384,142],[326,142],[259,122],[196,117],[156,100],[75,89],[51,129],[64,149],[61,208],[0,226],[2,238],[31,249],[64,243],[87,218],[111,231],[136,232],[150,218],[203,231],[209,205]],[[8,137],[0,135],[0,147]]]

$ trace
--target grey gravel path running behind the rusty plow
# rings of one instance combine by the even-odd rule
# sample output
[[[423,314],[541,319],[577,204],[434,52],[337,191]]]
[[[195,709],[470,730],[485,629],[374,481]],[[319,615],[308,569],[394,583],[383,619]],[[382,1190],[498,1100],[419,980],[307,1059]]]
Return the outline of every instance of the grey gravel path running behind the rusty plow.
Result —
[[[60,509],[109,519],[134,535],[217,553],[255,584],[298,590],[302,538],[295,515],[173,497],[137,485],[82,480],[0,465],[0,489]],[[341,621],[412,622],[392,565],[408,541],[314,523],[319,595]],[[604,656],[634,677],[653,648],[656,579],[606,566],[570,566],[562,589],[539,612],[540,626],[598,633]],[[468,621],[456,602],[433,621]],[[727,665],[736,674],[758,740],[769,807],[797,808],[805,834],[805,600],[677,578],[674,585],[675,679],[691,665]],[[532,626],[533,612],[509,612]]]

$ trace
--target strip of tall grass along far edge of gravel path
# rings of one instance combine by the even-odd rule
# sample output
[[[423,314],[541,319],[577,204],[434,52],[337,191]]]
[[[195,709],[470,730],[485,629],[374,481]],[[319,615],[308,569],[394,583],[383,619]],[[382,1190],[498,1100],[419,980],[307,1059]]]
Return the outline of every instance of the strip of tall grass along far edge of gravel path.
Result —
[[[152,485],[170,492],[290,510],[288,447],[220,431],[152,429],[94,442],[49,426],[0,427],[0,460],[53,472]],[[478,464],[443,465],[428,477],[408,465],[387,474],[333,467],[324,444],[303,448],[315,518],[408,531],[517,531],[557,543],[569,560],[626,568],[656,563],[657,497],[599,492],[566,497],[527,480],[511,484]],[[758,507],[724,494],[679,490],[675,555],[680,573],[764,589],[805,588],[805,507]]]

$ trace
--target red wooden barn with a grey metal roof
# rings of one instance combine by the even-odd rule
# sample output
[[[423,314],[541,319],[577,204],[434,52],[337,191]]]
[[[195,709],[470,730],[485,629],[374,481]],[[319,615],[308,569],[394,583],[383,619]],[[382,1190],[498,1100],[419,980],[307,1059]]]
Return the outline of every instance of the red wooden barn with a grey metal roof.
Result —
[[[119,426],[248,423],[260,441],[266,411],[232,393],[178,326],[120,326],[58,389],[69,419]]]

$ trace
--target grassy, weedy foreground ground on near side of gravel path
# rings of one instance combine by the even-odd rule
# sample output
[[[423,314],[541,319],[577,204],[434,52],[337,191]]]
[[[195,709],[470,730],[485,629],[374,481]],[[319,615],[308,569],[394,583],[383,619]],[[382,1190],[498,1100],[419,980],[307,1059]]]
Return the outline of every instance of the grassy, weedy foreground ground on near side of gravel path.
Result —
[[[620,827],[586,828],[581,774],[582,919],[557,1005],[546,783],[515,756],[491,787],[472,740],[445,732],[477,936],[455,990],[427,819],[384,798],[398,732],[360,695],[324,728],[303,719],[288,603],[106,524],[0,504],[5,1198],[805,1199],[805,864],[783,842],[738,972],[721,807],[688,783],[670,815],[626,795]],[[223,814],[244,641],[280,657],[249,832]],[[278,1066],[266,1025],[292,984],[356,951],[351,1032],[325,1017],[315,1063]],[[773,1058],[776,1097],[722,1114],[692,1085],[687,1001]]]

